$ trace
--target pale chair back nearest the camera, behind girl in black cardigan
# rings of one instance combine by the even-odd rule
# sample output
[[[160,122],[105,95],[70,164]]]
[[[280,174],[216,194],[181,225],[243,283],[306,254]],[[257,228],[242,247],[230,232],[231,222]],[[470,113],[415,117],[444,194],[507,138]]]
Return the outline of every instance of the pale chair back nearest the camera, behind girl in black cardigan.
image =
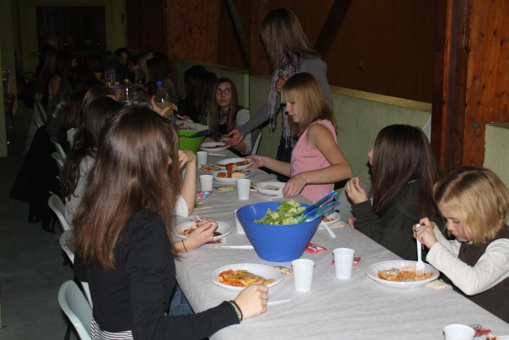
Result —
[[[69,318],[81,340],[90,339],[92,307],[74,281],[66,281],[59,291],[60,308]]]

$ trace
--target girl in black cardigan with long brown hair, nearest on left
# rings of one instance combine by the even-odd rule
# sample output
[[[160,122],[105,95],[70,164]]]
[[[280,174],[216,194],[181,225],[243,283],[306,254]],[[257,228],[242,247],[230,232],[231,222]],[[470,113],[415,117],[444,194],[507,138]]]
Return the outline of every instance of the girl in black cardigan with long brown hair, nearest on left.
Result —
[[[196,315],[166,316],[176,284],[177,145],[172,123],[144,107],[122,109],[101,134],[74,219],[94,301],[93,337],[201,339],[266,310],[268,289],[259,282]]]

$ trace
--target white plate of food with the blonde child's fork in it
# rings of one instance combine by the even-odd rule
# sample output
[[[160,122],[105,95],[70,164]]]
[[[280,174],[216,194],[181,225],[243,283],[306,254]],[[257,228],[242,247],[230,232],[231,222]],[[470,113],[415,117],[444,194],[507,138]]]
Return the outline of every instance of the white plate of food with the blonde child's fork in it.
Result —
[[[388,287],[411,289],[425,285],[438,278],[440,272],[425,264],[425,275],[415,274],[416,261],[395,260],[376,263],[367,269],[366,275]]]

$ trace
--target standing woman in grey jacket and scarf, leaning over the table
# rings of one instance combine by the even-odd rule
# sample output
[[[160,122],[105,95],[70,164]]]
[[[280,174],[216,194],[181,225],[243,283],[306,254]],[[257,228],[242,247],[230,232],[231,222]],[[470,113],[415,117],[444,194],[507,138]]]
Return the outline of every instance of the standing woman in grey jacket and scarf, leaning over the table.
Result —
[[[270,119],[274,127],[276,114],[281,105],[281,87],[293,74],[306,72],[315,76],[320,83],[331,107],[332,95],[327,82],[327,65],[320,59],[318,52],[307,40],[297,16],[286,8],[273,10],[265,16],[261,28],[262,41],[274,66],[267,103],[242,127],[234,129],[228,136],[233,137],[232,144],[238,144],[254,128]],[[289,118],[282,118],[282,136],[277,148],[276,159],[290,162],[295,137]],[[287,181],[288,177],[278,176]]]

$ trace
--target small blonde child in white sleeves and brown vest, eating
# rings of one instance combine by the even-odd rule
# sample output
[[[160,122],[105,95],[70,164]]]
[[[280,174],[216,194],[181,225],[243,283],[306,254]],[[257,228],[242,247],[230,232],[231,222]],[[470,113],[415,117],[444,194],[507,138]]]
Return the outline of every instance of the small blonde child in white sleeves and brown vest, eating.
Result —
[[[426,260],[479,306],[509,322],[509,190],[491,170],[464,167],[435,188],[448,241],[428,218],[414,236],[430,251]]]

